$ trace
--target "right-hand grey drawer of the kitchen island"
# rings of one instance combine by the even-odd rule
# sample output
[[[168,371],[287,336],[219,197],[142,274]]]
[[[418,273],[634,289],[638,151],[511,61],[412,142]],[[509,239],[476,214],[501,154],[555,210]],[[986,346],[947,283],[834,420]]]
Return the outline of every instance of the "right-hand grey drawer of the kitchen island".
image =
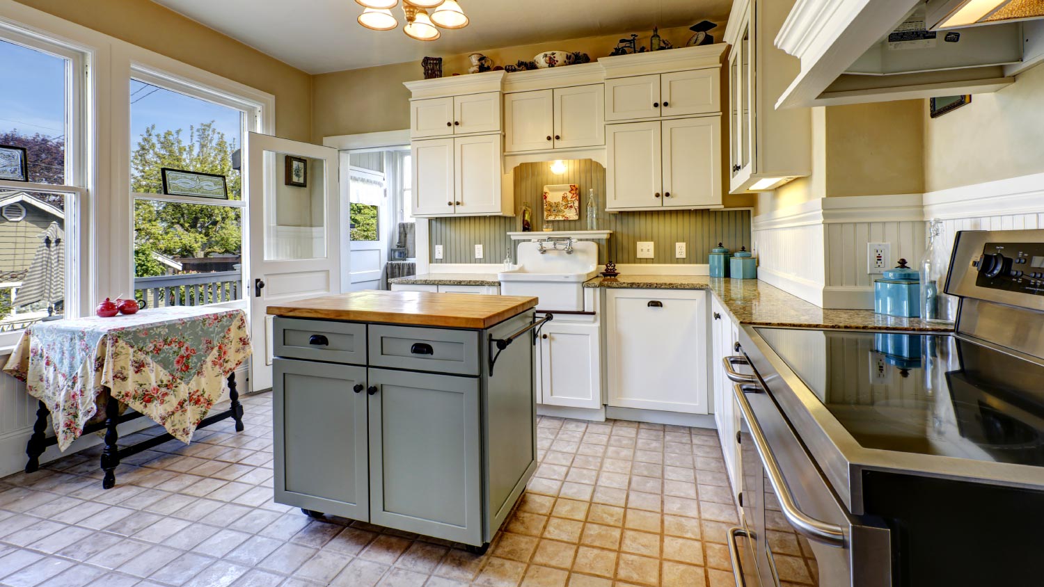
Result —
[[[476,331],[370,325],[370,365],[478,375]]]

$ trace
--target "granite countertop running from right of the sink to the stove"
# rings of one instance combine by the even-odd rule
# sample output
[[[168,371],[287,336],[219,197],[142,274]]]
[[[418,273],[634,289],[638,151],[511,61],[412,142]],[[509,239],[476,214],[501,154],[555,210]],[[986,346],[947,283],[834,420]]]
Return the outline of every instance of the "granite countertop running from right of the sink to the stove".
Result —
[[[620,275],[595,277],[585,288],[710,290],[741,324],[812,328],[951,332],[952,326],[919,318],[897,318],[870,310],[828,310],[758,279],[706,275]]]

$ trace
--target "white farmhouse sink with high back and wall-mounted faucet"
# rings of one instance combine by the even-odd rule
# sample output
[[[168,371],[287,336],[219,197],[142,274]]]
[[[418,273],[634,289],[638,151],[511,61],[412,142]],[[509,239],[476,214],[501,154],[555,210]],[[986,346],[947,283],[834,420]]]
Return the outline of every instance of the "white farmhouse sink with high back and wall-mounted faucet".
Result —
[[[518,268],[497,274],[501,295],[537,296],[539,310],[584,310],[584,282],[598,274],[598,245],[573,243],[572,254],[541,243],[519,243]]]

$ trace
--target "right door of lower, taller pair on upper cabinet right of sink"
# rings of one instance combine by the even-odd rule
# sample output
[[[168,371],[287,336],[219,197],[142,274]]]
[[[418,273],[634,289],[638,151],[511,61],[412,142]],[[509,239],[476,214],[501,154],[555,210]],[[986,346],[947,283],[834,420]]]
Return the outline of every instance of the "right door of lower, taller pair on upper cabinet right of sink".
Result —
[[[663,205],[721,204],[721,117],[665,120]]]

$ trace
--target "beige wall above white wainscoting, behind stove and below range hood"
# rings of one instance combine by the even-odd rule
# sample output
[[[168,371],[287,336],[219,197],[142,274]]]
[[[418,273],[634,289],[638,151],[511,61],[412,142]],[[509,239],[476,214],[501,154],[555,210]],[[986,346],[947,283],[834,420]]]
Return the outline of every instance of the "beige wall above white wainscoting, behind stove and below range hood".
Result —
[[[1044,67],[934,120],[923,102],[926,191],[1044,172]]]

